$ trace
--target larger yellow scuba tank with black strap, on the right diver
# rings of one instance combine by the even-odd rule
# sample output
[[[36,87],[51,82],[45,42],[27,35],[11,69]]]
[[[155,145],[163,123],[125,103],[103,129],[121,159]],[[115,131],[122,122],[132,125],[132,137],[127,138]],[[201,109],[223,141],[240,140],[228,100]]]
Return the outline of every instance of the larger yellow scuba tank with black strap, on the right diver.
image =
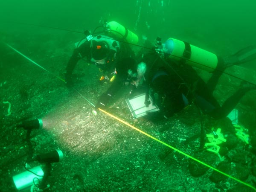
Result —
[[[174,38],[165,42],[164,52],[170,54],[171,59],[208,72],[214,71],[218,64],[217,55]]]

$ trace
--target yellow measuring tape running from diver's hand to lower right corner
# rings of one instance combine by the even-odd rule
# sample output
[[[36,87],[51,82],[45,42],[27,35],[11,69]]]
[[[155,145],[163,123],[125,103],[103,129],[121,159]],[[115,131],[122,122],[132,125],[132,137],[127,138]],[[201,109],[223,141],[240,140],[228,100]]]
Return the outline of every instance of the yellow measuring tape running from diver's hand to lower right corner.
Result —
[[[135,129],[136,131],[139,131],[140,133],[142,133],[142,134],[144,134],[144,135],[150,137],[151,139],[153,139],[153,140],[155,140],[155,141],[157,141],[157,142],[159,142],[159,143],[161,143],[161,144],[163,144],[163,145],[166,145],[167,147],[173,149],[174,151],[177,151],[178,153],[183,154],[183,155],[185,155],[186,157],[189,157],[190,159],[195,160],[196,162],[201,163],[202,165],[207,166],[207,167],[209,167],[210,169],[212,169],[212,170],[214,170],[214,171],[216,171],[216,172],[218,172],[218,173],[220,173],[220,174],[222,174],[222,175],[225,175],[225,176],[227,176],[227,177],[230,177],[231,179],[236,180],[237,182],[239,182],[239,183],[241,183],[241,184],[244,184],[244,185],[246,185],[246,186],[248,186],[248,187],[250,187],[250,188],[252,188],[252,189],[254,189],[254,190],[256,191],[256,188],[253,187],[253,186],[251,186],[251,185],[249,185],[248,183],[245,183],[245,182],[243,182],[243,181],[241,181],[241,180],[239,180],[239,179],[237,179],[237,178],[235,178],[235,177],[232,177],[231,175],[228,175],[227,173],[221,172],[220,170],[218,170],[218,169],[216,169],[216,168],[214,168],[214,167],[212,167],[212,166],[210,166],[210,165],[208,165],[208,164],[202,162],[201,160],[198,160],[198,159],[196,159],[195,157],[192,157],[192,156],[190,156],[189,154],[186,154],[186,153],[184,153],[183,151],[180,151],[180,150],[178,150],[177,148],[174,148],[174,147],[172,147],[171,145],[168,145],[167,143],[164,143],[163,141],[161,141],[161,140],[159,140],[159,139],[157,139],[157,138],[151,136],[150,134],[147,134],[147,133],[145,133],[144,131],[141,131],[140,129],[134,127],[133,125],[129,124],[128,122],[125,122],[125,121],[123,121],[122,119],[119,119],[118,117],[113,116],[112,114],[108,113],[107,111],[104,111],[104,110],[102,110],[101,108],[99,108],[99,111],[102,111],[103,113],[107,114],[108,116],[111,116],[112,118],[116,119],[117,121],[122,122],[123,124],[129,126],[130,128]]]

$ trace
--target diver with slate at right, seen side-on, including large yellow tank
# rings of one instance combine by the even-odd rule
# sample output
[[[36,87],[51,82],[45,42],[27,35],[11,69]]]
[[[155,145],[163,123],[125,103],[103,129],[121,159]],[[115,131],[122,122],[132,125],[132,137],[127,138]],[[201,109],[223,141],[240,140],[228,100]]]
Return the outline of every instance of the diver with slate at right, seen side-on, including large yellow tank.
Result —
[[[147,91],[145,105],[150,101],[160,109],[162,117],[168,118],[186,108],[192,102],[204,114],[214,119],[226,117],[249,90],[256,85],[242,81],[239,89],[221,106],[213,96],[219,77],[227,67],[238,65],[256,58],[256,47],[250,46],[234,55],[221,58],[211,52],[186,42],[169,38],[164,44],[157,38],[153,49],[143,52],[146,63]],[[212,73],[207,83],[201,79],[193,67]]]

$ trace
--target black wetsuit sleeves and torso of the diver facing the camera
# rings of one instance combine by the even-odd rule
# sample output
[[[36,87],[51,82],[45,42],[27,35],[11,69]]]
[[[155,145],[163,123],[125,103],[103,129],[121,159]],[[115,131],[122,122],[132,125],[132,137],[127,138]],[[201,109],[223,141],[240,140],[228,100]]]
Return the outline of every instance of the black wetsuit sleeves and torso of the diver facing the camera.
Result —
[[[125,82],[127,78],[128,69],[136,69],[136,61],[134,52],[131,50],[126,43],[119,42],[120,47],[117,49],[116,56],[113,61],[108,62],[105,65],[97,66],[101,68],[106,73],[111,73],[116,70],[116,78],[111,82],[111,86],[108,91],[99,98],[99,102],[96,105],[96,108],[104,108],[105,105],[109,102],[111,96],[113,96],[119,89],[120,86]],[[81,58],[87,58],[87,61],[90,62],[92,58],[92,51],[90,48],[90,41],[85,41],[81,44],[80,47],[76,48],[71,56],[67,68],[66,68],[66,82],[69,84],[71,82],[71,76],[74,68],[76,67],[77,62]]]

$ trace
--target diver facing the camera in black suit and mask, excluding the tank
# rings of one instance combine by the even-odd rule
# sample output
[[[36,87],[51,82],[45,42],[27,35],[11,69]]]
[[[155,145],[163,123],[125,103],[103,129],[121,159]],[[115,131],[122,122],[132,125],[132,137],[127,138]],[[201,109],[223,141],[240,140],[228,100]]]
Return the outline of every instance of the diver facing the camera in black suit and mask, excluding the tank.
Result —
[[[67,64],[65,82],[67,86],[73,85],[72,72],[77,62],[87,58],[88,63],[103,71],[101,80],[111,81],[111,87],[99,97],[96,104],[96,108],[104,108],[125,82],[128,69],[136,67],[134,52],[129,44],[105,35],[97,35],[89,41],[85,38],[76,47]]]

